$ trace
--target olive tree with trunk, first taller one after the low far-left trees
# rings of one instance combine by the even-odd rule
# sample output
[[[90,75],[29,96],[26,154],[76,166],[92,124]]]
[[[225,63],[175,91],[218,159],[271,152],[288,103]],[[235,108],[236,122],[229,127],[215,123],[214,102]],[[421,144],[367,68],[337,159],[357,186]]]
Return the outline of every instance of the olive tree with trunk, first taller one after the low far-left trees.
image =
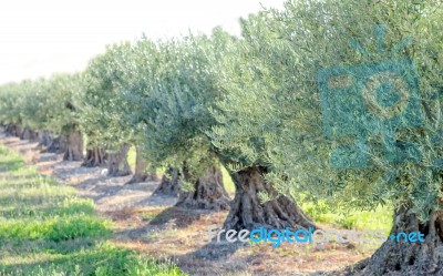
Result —
[[[119,96],[127,80],[124,61],[130,53],[128,42],[109,45],[105,53],[90,62],[84,73],[81,127],[89,137],[85,165],[107,163],[111,176],[132,173],[127,163],[130,133],[121,120],[125,102]]]

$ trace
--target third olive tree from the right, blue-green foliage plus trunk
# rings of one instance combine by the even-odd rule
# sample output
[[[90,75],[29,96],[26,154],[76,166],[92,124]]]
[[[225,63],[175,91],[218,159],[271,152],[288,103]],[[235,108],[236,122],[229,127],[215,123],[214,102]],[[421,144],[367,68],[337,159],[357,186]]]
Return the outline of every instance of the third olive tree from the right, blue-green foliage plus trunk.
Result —
[[[218,96],[214,65],[231,43],[218,29],[210,38],[158,42],[148,94],[128,95],[143,106],[136,116],[144,122],[142,141],[150,159],[178,170],[169,170],[183,185],[178,206],[228,208],[219,159],[204,130],[214,123],[208,106]]]

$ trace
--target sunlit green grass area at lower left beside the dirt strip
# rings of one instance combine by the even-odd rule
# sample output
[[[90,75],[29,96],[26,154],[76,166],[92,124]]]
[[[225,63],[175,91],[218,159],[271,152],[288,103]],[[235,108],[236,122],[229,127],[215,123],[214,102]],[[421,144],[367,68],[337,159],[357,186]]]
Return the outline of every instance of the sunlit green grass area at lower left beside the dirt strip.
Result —
[[[171,262],[121,248],[91,200],[40,175],[0,145],[0,276],[184,275]]]

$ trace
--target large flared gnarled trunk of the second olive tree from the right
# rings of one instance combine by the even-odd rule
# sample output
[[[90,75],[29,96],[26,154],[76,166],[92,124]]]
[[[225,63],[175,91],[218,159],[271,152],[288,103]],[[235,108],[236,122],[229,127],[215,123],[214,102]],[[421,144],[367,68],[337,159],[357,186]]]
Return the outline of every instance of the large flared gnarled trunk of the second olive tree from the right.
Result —
[[[276,195],[270,183],[266,183],[264,174],[265,167],[251,166],[233,174],[236,186],[236,195],[230,205],[225,229],[254,229],[265,228],[300,228],[317,226],[310,222],[298,205],[285,195],[278,195],[276,200],[260,203],[259,192],[267,192]]]

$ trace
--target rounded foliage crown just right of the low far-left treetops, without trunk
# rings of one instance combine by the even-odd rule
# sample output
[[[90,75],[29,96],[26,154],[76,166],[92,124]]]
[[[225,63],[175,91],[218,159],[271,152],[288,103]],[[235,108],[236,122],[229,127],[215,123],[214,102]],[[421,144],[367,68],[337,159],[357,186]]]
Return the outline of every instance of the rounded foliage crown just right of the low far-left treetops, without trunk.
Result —
[[[127,89],[134,52],[130,43],[109,45],[106,52],[94,58],[84,73],[81,129],[91,145],[122,144],[131,135],[124,124],[127,101],[121,101]]]

